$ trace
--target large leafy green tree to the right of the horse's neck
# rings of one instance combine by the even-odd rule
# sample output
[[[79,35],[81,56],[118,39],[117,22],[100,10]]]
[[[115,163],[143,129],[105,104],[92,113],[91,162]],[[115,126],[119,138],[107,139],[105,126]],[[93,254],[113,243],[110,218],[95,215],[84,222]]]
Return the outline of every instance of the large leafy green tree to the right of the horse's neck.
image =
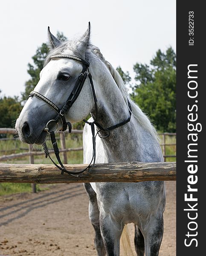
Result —
[[[136,63],[133,99],[162,132],[176,131],[176,54],[159,49],[151,66]]]

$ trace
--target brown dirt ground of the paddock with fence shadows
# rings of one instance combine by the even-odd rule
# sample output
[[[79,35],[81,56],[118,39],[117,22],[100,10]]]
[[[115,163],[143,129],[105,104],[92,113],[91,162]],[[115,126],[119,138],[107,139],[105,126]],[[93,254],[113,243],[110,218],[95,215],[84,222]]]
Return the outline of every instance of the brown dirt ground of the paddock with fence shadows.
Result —
[[[175,256],[176,182],[166,182],[166,193],[160,256]],[[87,211],[88,198],[81,183],[1,198],[0,255],[95,256],[94,231]],[[133,224],[129,228],[133,242]]]

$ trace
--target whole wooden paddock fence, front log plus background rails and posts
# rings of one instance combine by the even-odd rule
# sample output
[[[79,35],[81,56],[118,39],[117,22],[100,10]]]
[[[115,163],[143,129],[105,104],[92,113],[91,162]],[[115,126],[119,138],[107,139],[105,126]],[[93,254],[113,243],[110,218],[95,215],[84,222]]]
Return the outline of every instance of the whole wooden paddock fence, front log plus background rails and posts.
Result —
[[[82,130],[73,130],[72,134],[82,134]],[[17,134],[15,129],[0,128],[0,134]],[[79,171],[84,169],[82,164],[67,165],[67,152],[82,151],[83,147],[67,148],[65,143],[65,134],[59,132],[61,149],[63,154],[63,162],[67,169],[71,171]],[[176,133],[162,133],[159,134],[162,143],[162,153],[164,161],[168,157],[176,157],[175,154],[167,154],[167,147],[174,147],[176,152],[176,138],[175,143],[168,143],[167,137],[176,136]],[[66,134],[67,136],[67,134]],[[17,140],[16,137],[0,138],[1,141]],[[170,141],[170,140],[169,140]],[[26,144],[25,144],[26,145]],[[35,164],[35,156],[44,155],[44,151],[37,151],[32,145],[28,148],[18,148],[23,150],[22,153],[5,154],[6,151],[1,150],[4,155],[0,156],[0,161],[7,161],[11,159],[18,159],[21,157],[29,157],[30,164],[0,164],[0,182],[18,182],[18,183],[32,183],[32,192],[36,192],[35,183],[70,183],[70,182],[139,182],[144,180],[176,180],[176,163],[115,163],[95,165],[92,175],[90,171],[84,172],[84,175],[79,175],[78,178],[70,175],[61,175],[60,171],[53,165]],[[17,149],[10,149],[8,151],[16,151]],[[52,154],[52,149],[49,150]],[[174,151],[173,151],[174,152]]]

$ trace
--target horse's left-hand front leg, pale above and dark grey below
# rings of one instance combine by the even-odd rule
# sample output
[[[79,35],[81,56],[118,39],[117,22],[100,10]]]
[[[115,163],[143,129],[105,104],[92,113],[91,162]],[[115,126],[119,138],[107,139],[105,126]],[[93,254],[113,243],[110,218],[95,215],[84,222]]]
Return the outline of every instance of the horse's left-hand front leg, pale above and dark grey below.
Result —
[[[113,221],[110,215],[101,210],[99,224],[107,256],[119,256],[120,237],[124,226]]]

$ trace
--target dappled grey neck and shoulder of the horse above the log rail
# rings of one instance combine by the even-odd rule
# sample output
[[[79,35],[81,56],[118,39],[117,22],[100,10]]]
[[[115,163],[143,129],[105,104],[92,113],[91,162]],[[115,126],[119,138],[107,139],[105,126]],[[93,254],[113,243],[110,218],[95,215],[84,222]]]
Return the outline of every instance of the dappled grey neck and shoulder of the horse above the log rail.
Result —
[[[102,61],[98,61],[93,65],[93,72],[98,100],[96,121],[104,128],[126,121],[130,116],[128,105],[110,71]],[[132,105],[132,108],[136,106]],[[96,118],[95,111],[92,112],[92,116]],[[104,132],[102,135],[105,135]],[[101,143],[110,163],[162,161],[162,151],[157,139],[134,116],[131,116],[130,122],[110,131],[110,136],[101,139]]]

